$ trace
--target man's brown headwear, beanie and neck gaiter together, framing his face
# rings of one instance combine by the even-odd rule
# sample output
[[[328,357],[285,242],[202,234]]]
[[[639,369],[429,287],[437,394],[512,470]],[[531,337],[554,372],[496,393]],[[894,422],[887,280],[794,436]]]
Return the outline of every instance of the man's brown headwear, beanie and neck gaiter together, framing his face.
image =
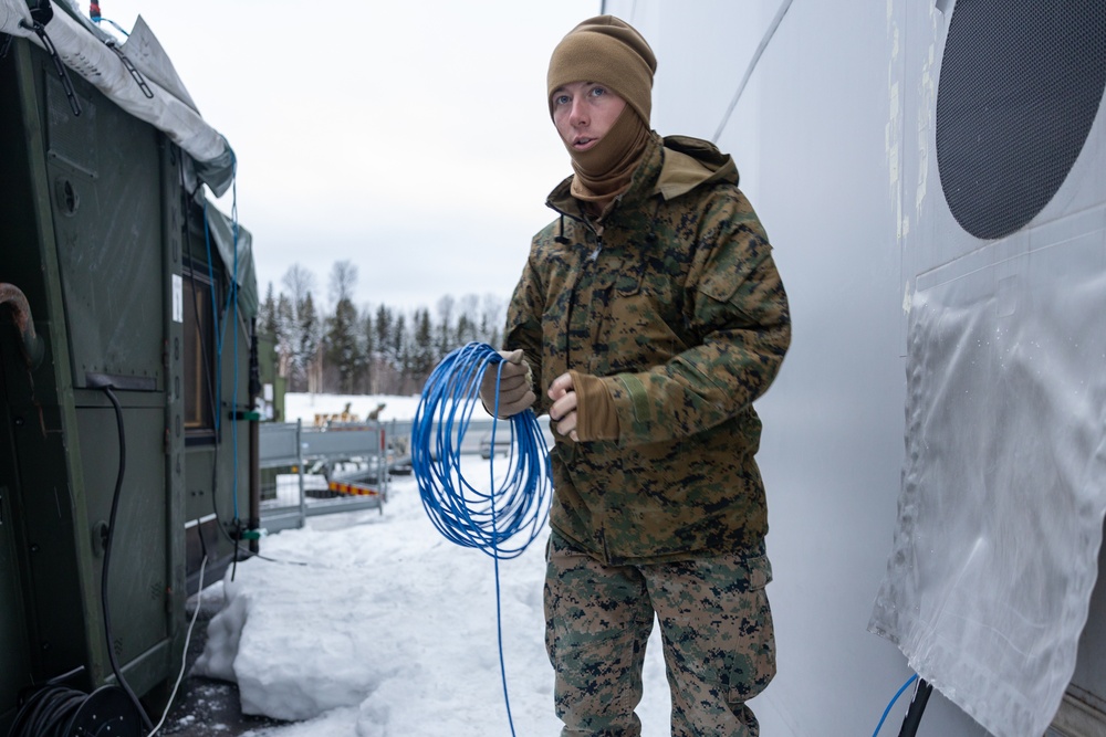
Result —
[[[576,172],[572,193],[582,200],[602,200],[629,186],[634,169],[649,143],[653,75],[657,59],[646,40],[614,15],[598,15],[568,32],[550,59],[546,97],[553,115],[553,91],[572,82],[595,82],[626,101],[626,109],[592,149],[568,156]]]

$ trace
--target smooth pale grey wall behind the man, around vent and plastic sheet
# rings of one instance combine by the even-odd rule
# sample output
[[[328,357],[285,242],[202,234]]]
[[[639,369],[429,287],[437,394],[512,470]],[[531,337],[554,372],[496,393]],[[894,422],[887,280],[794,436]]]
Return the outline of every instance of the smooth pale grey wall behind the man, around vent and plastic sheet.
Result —
[[[908,344],[918,275],[991,242],[959,229],[937,172],[933,116],[954,3],[611,0],[603,6],[639,28],[657,52],[653,127],[712,139],[733,154],[791,298],[792,349],[758,404],[780,663],[776,680],[753,704],[762,731],[870,734],[918,665],[867,631],[901,524],[912,431],[905,414],[909,401],[918,407],[907,393],[908,364],[941,360],[932,344]],[[1093,137],[1100,125],[1095,123]],[[1094,173],[1103,170],[1103,148],[1088,144],[1081,156],[1068,189],[1027,228],[1042,218],[1070,224],[1068,215],[1106,201],[1102,177]],[[1097,239],[1092,255],[1065,267],[1100,269],[1097,228],[1087,231]],[[1052,235],[1063,241],[1079,233],[1054,228]],[[1031,238],[1042,246],[1040,234]],[[1053,294],[1040,280],[1024,284],[1031,296]],[[1088,329],[1093,320],[1081,325],[1072,329]],[[1100,373],[1092,370],[1091,358],[1084,351],[1074,362],[1087,379]],[[988,399],[990,407],[997,397]],[[1094,401],[1089,406],[1100,409]],[[914,450],[922,454],[919,463],[935,466],[925,449]],[[1093,448],[1083,452],[1092,463]],[[978,460],[987,465],[985,455]],[[1016,463],[1008,468],[1016,475]],[[1089,509],[1083,524],[1093,527],[1097,514],[1100,538],[1102,508]],[[1032,556],[1034,541],[1023,543]],[[1096,535],[1076,547],[1094,583]],[[1089,617],[1078,657],[1068,661],[1077,666],[1068,672],[1061,717],[1073,698],[1092,710],[1106,704],[1106,678],[1097,665],[1106,646],[1102,592],[1099,581],[1093,596],[1089,589],[1073,594],[1082,597]],[[919,734],[988,734],[968,716],[964,699],[963,692],[935,691]],[[1103,728],[1102,722],[1093,724]]]

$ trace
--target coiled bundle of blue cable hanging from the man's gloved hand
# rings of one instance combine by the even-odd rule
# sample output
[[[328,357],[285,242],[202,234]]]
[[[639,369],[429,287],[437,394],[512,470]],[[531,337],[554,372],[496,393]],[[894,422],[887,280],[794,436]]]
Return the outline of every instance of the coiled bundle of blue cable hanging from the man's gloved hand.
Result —
[[[539,535],[549,517],[546,497],[553,485],[545,439],[530,409],[509,420],[512,452],[498,487],[498,420],[491,429],[490,484],[473,485],[461,473],[461,439],[480,406],[480,382],[489,370],[498,379],[502,364],[502,356],[487,344],[453,350],[427,379],[411,428],[411,470],[430,520],[447,539],[497,560],[520,556]],[[498,392],[492,410],[499,414]],[[508,545],[520,533],[525,534],[522,541]]]

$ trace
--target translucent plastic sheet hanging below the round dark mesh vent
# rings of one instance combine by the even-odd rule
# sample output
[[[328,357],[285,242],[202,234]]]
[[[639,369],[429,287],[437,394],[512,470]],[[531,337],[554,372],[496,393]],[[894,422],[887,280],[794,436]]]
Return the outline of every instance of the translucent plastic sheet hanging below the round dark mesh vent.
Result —
[[[1000,737],[1044,734],[1106,514],[1106,209],[918,278],[899,526],[869,629]]]

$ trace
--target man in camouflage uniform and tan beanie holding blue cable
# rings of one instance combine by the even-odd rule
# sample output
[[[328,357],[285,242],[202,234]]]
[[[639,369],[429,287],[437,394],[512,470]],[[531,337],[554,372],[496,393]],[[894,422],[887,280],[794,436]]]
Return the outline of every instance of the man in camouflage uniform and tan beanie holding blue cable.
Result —
[[[745,702],[774,676],[775,643],[753,401],[791,319],[731,157],[650,129],[655,71],[611,15],[554,49],[550,114],[573,175],[480,393],[555,430],[544,604],[562,736],[640,734],[655,617],[671,734],[754,736]]]

